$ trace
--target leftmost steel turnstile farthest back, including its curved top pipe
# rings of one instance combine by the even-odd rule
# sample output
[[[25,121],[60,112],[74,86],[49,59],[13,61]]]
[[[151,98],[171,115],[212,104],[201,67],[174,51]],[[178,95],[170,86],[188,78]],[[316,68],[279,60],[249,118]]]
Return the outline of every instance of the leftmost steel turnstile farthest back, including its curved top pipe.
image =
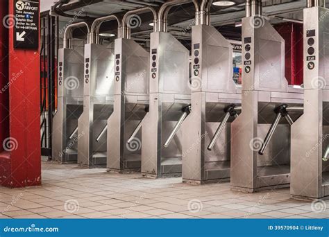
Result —
[[[70,49],[74,28],[87,27],[84,22],[71,24],[65,30],[64,48],[58,51],[58,109],[53,118],[53,154],[63,164],[78,158],[78,119],[83,113],[84,57]],[[89,35],[88,35],[89,37]]]

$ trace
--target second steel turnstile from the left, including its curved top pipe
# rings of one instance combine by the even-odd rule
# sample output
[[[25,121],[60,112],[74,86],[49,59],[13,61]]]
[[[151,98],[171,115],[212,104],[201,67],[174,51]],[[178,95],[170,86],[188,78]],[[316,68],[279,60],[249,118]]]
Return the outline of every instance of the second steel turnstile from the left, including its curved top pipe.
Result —
[[[108,16],[92,24],[91,44],[85,45],[85,86],[83,114],[78,120],[78,164],[106,166],[108,119],[113,112],[115,56],[112,49],[99,44],[99,28]],[[117,19],[119,22],[119,19]],[[120,24],[120,23],[119,23]],[[118,26],[119,28],[119,26]]]

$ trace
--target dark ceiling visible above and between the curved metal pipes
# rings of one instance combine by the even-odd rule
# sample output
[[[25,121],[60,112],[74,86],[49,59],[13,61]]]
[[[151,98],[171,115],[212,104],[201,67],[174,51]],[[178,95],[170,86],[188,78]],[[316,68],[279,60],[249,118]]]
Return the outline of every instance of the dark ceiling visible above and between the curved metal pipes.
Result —
[[[172,0],[171,0],[172,1]],[[230,40],[239,40],[241,35],[241,27],[236,27],[235,24],[244,17],[244,1],[233,0],[235,6],[223,8],[212,6],[211,21],[212,26]],[[144,6],[160,7],[163,0],[149,1],[112,1],[112,0],[71,0],[68,4],[62,6],[65,13],[71,15],[78,11],[83,11],[84,16],[103,17],[112,14],[124,14],[128,10],[142,8]],[[263,15],[269,17],[272,24],[278,24],[289,19],[298,21],[303,20],[303,8],[305,8],[306,0],[262,0]],[[194,24],[194,4],[187,3],[185,5],[172,8],[169,13],[168,26],[169,31],[176,35],[180,40],[189,40],[189,29]],[[280,18],[279,18],[280,17]],[[132,30],[132,35],[138,39],[148,39],[152,31],[149,23],[153,21],[151,13],[140,15],[142,24],[139,28]],[[284,18],[285,20],[283,20]],[[117,24],[113,21],[106,22],[101,27],[102,32],[117,33]]]

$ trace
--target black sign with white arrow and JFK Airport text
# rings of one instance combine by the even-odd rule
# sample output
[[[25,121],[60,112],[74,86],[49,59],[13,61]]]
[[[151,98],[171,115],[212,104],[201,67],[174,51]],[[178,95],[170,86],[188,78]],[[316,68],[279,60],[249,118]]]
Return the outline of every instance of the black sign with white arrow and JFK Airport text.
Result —
[[[15,49],[39,48],[39,0],[15,0]]]

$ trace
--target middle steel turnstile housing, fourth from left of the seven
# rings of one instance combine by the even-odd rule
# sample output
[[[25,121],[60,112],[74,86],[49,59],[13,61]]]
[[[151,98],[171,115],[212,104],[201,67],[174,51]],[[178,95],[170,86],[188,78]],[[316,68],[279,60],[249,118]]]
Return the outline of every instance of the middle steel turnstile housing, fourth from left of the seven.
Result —
[[[189,51],[167,32],[151,33],[150,108],[142,127],[142,174],[180,175],[182,130],[165,141],[189,105]],[[180,120],[183,121],[183,120]]]

